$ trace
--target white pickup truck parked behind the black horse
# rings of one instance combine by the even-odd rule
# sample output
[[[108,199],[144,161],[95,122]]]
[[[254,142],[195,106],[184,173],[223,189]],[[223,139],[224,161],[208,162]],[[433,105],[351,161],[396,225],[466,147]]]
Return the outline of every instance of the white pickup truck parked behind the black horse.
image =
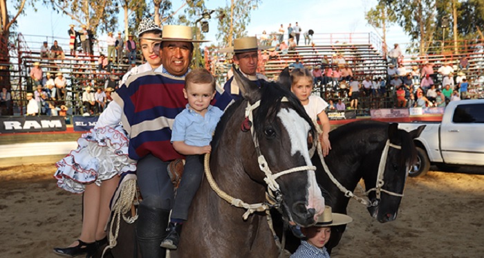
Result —
[[[484,100],[449,102],[442,122],[399,123],[406,131],[426,125],[414,140],[418,163],[409,176],[423,176],[431,164],[443,171],[456,170],[459,165],[484,166]]]

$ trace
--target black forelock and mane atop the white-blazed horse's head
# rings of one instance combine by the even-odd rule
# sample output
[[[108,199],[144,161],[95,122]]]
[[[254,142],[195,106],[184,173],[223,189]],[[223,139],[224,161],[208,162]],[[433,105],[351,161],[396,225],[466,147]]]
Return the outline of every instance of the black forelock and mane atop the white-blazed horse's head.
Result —
[[[261,87],[261,105],[258,109],[255,110],[257,116],[254,116],[254,125],[255,125],[255,132],[258,138],[263,137],[264,127],[257,126],[257,125],[264,125],[266,120],[274,120],[276,118],[277,112],[281,109],[281,100],[283,97],[286,97],[289,107],[294,109],[296,113],[304,118],[306,122],[311,127],[311,134],[313,135],[313,139],[317,139],[316,129],[313,125],[313,122],[306,113],[306,110],[302,106],[301,102],[296,98],[296,96],[285,87],[277,84],[275,82],[266,82]]]

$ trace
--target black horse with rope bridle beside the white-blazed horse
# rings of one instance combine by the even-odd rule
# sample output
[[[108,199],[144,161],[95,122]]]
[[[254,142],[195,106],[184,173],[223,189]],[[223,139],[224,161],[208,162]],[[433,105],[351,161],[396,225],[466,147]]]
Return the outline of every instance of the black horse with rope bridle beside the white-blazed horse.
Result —
[[[320,154],[315,153],[311,159],[317,167],[317,183],[328,197],[326,205],[331,206],[333,212],[347,214],[348,202],[353,197],[366,204],[370,215],[380,223],[394,221],[409,167],[416,163],[413,139],[418,138],[424,128],[407,132],[398,129],[397,123],[362,120],[331,131],[331,151],[324,157],[324,162],[337,183],[325,172]],[[382,169],[379,169],[380,165]],[[353,195],[360,179],[364,181],[368,200]],[[274,221],[278,222],[274,228],[282,227],[280,219],[274,218]],[[345,229],[346,225],[331,228],[331,237],[326,243],[328,252],[337,246]],[[294,252],[300,240],[290,230],[286,230],[286,237],[286,250]]]

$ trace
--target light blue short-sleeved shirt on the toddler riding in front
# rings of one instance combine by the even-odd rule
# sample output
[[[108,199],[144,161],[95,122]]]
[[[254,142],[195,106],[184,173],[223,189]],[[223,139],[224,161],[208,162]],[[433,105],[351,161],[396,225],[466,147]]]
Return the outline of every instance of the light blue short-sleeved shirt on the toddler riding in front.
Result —
[[[175,118],[171,133],[171,142],[183,141],[190,146],[206,146],[210,145],[212,141],[212,133],[220,120],[223,112],[210,105],[205,116],[196,113],[196,111],[189,109],[187,104],[186,109]]]

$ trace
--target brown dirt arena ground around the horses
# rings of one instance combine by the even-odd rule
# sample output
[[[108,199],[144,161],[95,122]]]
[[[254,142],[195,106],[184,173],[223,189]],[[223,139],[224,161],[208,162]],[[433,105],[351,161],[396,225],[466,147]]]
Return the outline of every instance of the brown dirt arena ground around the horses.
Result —
[[[80,195],[59,190],[53,164],[0,167],[0,257],[57,257],[81,228]],[[478,172],[478,174],[467,174]],[[483,257],[484,173],[409,178],[398,219],[378,223],[351,201],[332,257]]]

